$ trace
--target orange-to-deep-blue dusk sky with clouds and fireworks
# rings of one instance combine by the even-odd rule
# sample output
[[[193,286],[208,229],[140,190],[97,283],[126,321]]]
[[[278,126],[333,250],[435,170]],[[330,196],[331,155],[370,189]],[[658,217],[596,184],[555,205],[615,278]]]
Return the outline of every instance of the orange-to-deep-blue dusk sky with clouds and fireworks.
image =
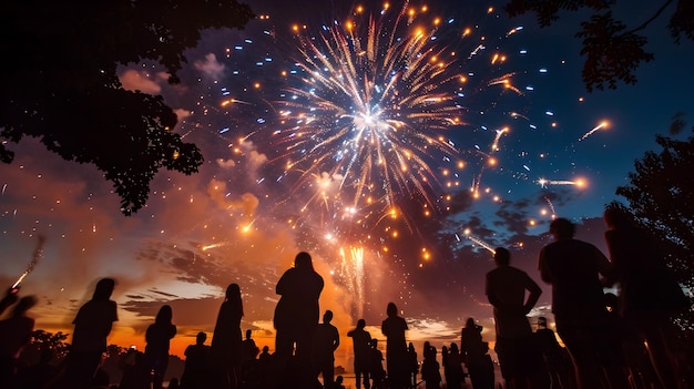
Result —
[[[604,247],[602,209],[634,160],[657,150],[675,113],[694,113],[693,44],[672,43],[665,20],[649,30],[655,61],[636,85],[588,93],[573,38],[588,14],[539,29],[532,16],[509,19],[503,2],[315,2],[248,1],[258,18],[205,32],[178,85],[155,63],[122,66],[123,86],[162,94],[178,114],[174,131],[205,156],[193,176],[161,172],[131,217],[93,166],[30,139],[10,145],[0,283],[14,283],[45,236],[21,284],[40,299],[37,328],[70,332],[109,276],[120,315],[110,342],[143,347],[170,304],[182,354],[213,330],[237,283],[243,328],[272,347],[275,283],[307,250],[340,334],[365,318],[381,337],[395,301],[416,344],[459,339],[468,317],[493,340],[488,248],[509,247],[541,284],[552,217]],[[615,17],[640,24],[654,11],[640,2],[618,2]],[[551,318],[542,286],[531,316]],[[338,364],[350,351],[345,340]]]

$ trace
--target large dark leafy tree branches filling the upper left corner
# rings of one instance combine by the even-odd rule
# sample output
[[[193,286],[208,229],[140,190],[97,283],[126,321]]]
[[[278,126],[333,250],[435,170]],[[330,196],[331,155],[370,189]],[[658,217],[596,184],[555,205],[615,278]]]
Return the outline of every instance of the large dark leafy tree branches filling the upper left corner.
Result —
[[[254,14],[236,0],[0,2],[0,161],[32,136],[64,160],[94,164],[125,215],[140,209],[160,168],[197,172],[203,156],[172,132],[161,96],[122,89],[119,65],[144,60],[176,73],[201,30],[243,28]]]

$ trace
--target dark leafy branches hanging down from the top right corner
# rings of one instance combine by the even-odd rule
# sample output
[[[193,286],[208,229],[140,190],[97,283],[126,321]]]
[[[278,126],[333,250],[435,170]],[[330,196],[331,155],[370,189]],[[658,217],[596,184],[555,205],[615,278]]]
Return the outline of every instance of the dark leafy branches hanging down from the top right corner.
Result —
[[[618,82],[635,84],[635,70],[642,62],[655,57],[644,50],[649,42],[641,35],[651,22],[660,18],[671,6],[675,10],[667,28],[675,43],[681,37],[694,40],[694,3],[691,0],[664,0],[653,14],[635,28],[627,29],[612,16],[614,1],[606,0],[509,0],[504,9],[511,17],[534,12],[540,27],[548,27],[559,20],[560,10],[576,11],[592,9],[594,13],[581,23],[575,35],[583,39],[581,55],[585,55],[582,78],[585,89],[616,89]]]

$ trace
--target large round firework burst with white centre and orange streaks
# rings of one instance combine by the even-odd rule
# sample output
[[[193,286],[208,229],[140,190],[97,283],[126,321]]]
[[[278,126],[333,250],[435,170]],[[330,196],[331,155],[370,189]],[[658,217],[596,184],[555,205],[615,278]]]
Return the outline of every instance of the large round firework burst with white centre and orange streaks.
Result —
[[[278,102],[285,129],[276,144],[285,173],[298,172],[298,187],[313,191],[306,206],[376,224],[404,215],[402,202],[437,208],[440,166],[459,161],[447,131],[465,124],[467,82],[456,53],[435,44],[439,23],[416,25],[406,3],[364,25],[297,35],[299,82]]]

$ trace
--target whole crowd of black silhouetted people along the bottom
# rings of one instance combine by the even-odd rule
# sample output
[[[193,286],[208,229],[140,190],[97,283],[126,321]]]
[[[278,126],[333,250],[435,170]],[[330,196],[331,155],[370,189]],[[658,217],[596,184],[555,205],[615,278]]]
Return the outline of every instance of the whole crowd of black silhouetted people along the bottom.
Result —
[[[511,253],[499,247],[496,268],[487,273],[486,295],[493,307],[498,367],[482,327],[468,318],[460,342],[439,350],[423,344],[418,359],[407,342],[408,325],[389,303],[378,340],[366,330],[365,319],[346,335],[351,338],[357,389],[681,389],[690,382],[691,364],[677,351],[671,316],[691,309],[691,303],[665,266],[655,245],[632,226],[624,209],[604,213],[609,257],[594,245],[574,238],[574,225],[564,218],[550,224],[553,242],[539,254],[539,276],[551,285],[554,331],[545,317],[532,330],[528,315],[542,294],[525,272],[513,267]],[[619,284],[619,296],[604,287]],[[106,338],[118,320],[111,300],[115,281],[101,279],[91,300],[78,311],[72,342],[64,361],[49,367],[50,352],[35,366],[21,366],[19,356],[30,342],[34,321],[27,311],[32,296],[11,289],[0,301],[0,388],[45,389],[162,389],[170,341],[176,335],[171,306],[163,305],[145,332],[144,352],[131,348],[120,362],[123,371],[113,386],[101,368]],[[320,321],[319,296],[324,280],[313,268],[308,253],[299,253],[294,266],[276,285],[279,300],[274,313],[275,350],[256,346],[252,331],[242,335],[244,316],[241,287],[231,284],[220,307],[207,346],[207,334],[197,334],[185,349],[185,368],[167,388],[183,389],[341,389],[335,375],[335,350],[340,336],[331,325],[333,311]],[[11,309],[10,309],[11,308]],[[439,362],[440,360],[440,362]],[[385,365],[385,366],[384,366]],[[500,371],[497,377],[496,371]],[[442,372],[442,375],[441,375]],[[322,378],[320,380],[318,378]],[[499,383],[502,382],[502,383]]]

